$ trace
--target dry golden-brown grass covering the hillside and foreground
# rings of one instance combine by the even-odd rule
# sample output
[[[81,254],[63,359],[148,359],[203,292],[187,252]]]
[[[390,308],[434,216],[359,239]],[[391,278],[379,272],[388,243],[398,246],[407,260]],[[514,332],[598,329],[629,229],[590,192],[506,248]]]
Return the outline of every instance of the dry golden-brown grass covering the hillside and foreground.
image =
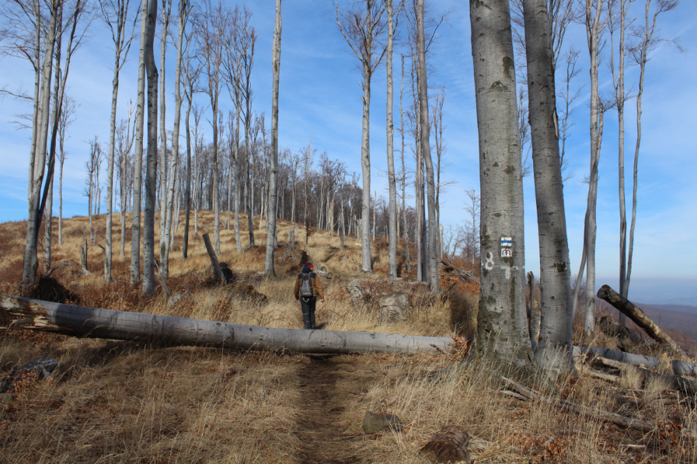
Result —
[[[246,220],[238,254],[227,215],[221,215],[220,261],[238,282],[266,295],[262,301],[221,286],[211,277],[201,233],[213,235],[213,217],[193,217],[189,257],[181,257],[183,219],[170,254],[169,295],[162,286],[146,298],[130,287],[130,231],[121,255],[120,224],[114,215],[114,282],[105,283],[103,254],[90,245],[88,269],[79,271],[79,246],[86,217],[63,221],[63,245],[54,245],[50,279],[22,291],[26,223],[0,224],[0,292],[59,300],[89,307],[143,311],[187,318],[269,327],[302,328],[292,295],[302,263],[305,231],[295,249],[287,244],[293,224],[280,222],[276,279],[263,279],[266,226],[255,221],[257,247],[248,247]],[[245,218],[246,219],[246,218]],[[95,219],[97,244],[104,244],[105,217]],[[130,215],[127,216],[130,224]],[[156,239],[159,231],[155,231]],[[159,244],[156,244],[159,249]],[[317,322],[328,330],[459,336],[475,331],[477,288],[443,277],[443,297],[422,286],[410,294],[413,311],[403,323],[381,323],[371,305],[354,307],[345,286],[356,277],[373,279],[379,293],[389,288],[387,245],[374,244],[374,275],[360,274],[360,246],[315,230],[307,255],[324,265],[326,300]],[[401,253],[401,252],[400,252]],[[40,261],[43,253],[40,251]],[[400,254],[403,277],[403,254]],[[45,272],[40,265],[40,273]],[[249,288],[248,285],[246,288]],[[173,299],[170,299],[173,300]],[[6,325],[1,318],[0,325]],[[579,340],[575,340],[576,343]],[[615,348],[599,335],[588,343]],[[631,348],[631,347],[630,347]],[[659,355],[651,346],[636,347]],[[521,401],[503,394],[501,371],[487,359],[460,352],[438,355],[312,356],[240,352],[216,348],[162,348],[145,343],[77,339],[63,335],[3,330],[0,378],[32,359],[59,363],[50,380],[26,376],[0,394],[1,463],[422,463],[421,447],[444,426],[464,427],[476,463],[696,463],[694,440],[680,431],[697,426],[696,399],[659,381],[642,382],[632,369],[619,381],[578,369],[556,382],[530,373],[504,372],[547,396],[586,406],[579,414],[542,399]],[[694,361],[694,360],[693,360]],[[7,384],[6,384],[7,385]],[[365,435],[365,412],[384,410],[404,423],[401,431]],[[602,421],[599,410],[656,421],[641,432]]]

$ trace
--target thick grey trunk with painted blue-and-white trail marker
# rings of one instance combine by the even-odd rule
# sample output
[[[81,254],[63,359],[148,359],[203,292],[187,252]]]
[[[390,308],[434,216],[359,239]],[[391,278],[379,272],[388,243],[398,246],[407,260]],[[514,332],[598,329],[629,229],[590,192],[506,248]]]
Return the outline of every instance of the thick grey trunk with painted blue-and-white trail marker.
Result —
[[[507,0],[470,2],[480,148],[482,268],[477,346],[524,366],[533,353],[525,315],[523,181]]]

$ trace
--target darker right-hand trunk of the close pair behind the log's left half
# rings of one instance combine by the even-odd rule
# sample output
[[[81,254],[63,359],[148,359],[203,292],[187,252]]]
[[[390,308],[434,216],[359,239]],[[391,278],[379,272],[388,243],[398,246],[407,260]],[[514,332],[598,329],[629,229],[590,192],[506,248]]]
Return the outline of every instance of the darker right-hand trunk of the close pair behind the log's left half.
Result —
[[[155,208],[158,178],[158,68],[155,65],[155,24],[157,0],[149,0],[146,28],[145,66],[148,75],[148,155],[145,174],[145,215],[143,217],[143,294],[155,295]],[[163,70],[164,72],[164,70]]]

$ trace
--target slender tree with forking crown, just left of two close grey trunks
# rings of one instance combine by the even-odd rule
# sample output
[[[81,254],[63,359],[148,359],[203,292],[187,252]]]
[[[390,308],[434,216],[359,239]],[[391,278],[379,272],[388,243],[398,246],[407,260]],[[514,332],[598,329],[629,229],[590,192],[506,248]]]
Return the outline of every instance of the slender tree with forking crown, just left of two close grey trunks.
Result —
[[[114,77],[112,79],[112,112],[109,119],[109,153],[107,167],[107,229],[105,234],[104,279],[112,281],[112,205],[114,194],[114,143],[116,139],[116,102],[118,101],[118,74],[126,61],[133,31],[137,22],[134,15],[132,25],[128,17],[128,0],[99,0],[102,20],[109,26],[114,42]],[[123,238],[122,238],[123,239]],[[122,240],[123,243],[123,240]]]

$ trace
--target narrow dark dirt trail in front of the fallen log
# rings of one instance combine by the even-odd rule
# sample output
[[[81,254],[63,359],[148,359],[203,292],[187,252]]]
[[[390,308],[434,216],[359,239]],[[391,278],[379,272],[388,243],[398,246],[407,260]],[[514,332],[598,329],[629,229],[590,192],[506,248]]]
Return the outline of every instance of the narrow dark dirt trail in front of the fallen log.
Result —
[[[296,435],[300,440],[298,462],[351,464],[362,460],[356,454],[355,433],[347,431],[341,416],[346,409],[337,384],[355,371],[355,359],[308,356],[298,373],[300,402]]]

